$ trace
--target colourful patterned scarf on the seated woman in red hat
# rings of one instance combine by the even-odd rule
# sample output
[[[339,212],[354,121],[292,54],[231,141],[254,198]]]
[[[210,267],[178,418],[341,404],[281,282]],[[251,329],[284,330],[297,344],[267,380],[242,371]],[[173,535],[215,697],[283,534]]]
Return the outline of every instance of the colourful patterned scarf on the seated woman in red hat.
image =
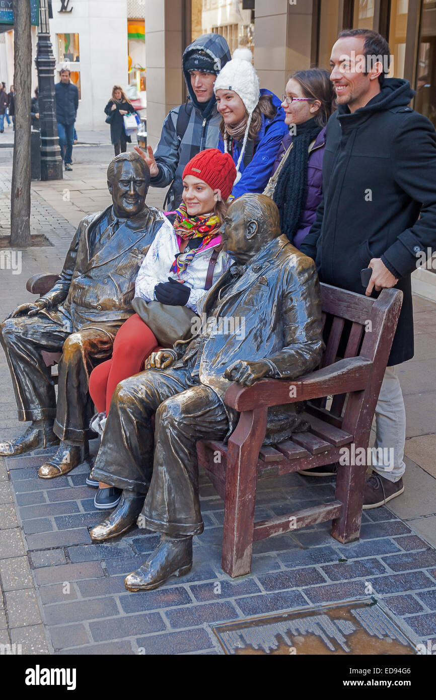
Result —
[[[221,222],[219,216],[216,216],[216,214],[188,216],[186,204],[184,203],[176,209],[176,214],[177,216],[173,224],[176,235],[180,236],[181,239],[185,241],[189,241],[192,238],[203,239],[198,248],[194,248],[187,253],[185,253],[185,251],[183,251],[183,253],[177,253],[171,265],[170,272],[176,272],[179,276],[181,272],[185,272],[185,269],[195,258],[195,255],[203,251],[210,241],[216,237],[216,232]]]

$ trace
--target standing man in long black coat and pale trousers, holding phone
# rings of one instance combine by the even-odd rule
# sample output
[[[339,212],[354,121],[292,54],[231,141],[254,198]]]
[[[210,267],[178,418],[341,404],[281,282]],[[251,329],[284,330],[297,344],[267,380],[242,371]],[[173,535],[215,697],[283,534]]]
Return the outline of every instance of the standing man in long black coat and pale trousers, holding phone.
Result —
[[[367,295],[391,287],[404,295],[376,408],[374,447],[384,458],[379,449],[364,509],[404,491],[405,406],[394,365],[414,355],[410,275],[436,246],[435,127],[409,107],[407,80],[385,77],[389,59],[388,43],[369,29],[342,31],[332,48],[338,109],[327,126],[323,202],[301,248],[323,282],[363,293],[360,270],[370,267]]]

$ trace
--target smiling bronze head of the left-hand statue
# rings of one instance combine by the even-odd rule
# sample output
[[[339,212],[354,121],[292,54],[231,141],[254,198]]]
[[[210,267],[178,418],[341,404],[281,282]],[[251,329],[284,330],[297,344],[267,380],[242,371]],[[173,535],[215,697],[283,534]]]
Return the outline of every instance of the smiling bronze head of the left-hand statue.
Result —
[[[136,216],[146,202],[150,169],[135,151],[120,153],[109,163],[108,190],[115,216]]]

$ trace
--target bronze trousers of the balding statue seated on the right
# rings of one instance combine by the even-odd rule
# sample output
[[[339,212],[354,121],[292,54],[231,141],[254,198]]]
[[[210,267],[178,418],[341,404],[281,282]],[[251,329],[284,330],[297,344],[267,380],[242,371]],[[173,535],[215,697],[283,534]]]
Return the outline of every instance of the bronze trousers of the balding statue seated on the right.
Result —
[[[223,402],[191,369],[148,370],[118,384],[92,470],[106,484],[147,494],[143,526],[167,535],[202,533],[196,442],[223,439],[229,425]]]

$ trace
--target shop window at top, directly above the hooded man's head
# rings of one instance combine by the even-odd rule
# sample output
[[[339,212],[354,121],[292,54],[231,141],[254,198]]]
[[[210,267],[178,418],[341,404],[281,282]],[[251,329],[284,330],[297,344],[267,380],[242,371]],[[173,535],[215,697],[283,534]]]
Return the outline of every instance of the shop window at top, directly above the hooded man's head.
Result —
[[[254,50],[255,0],[192,0],[191,41],[213,32],[227,41],[230,52],[239,46]]]

